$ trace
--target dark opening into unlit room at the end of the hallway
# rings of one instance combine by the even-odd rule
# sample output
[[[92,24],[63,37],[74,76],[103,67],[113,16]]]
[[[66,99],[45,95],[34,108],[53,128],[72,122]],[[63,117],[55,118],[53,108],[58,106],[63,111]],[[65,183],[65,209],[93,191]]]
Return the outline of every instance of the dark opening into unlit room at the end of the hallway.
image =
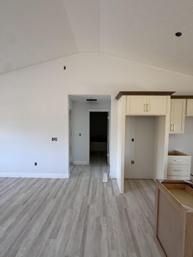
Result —
[[[90,161],[100,154],[109,162],[109,112],[90,111]],[[93,160],[92,160],[93,162]]]

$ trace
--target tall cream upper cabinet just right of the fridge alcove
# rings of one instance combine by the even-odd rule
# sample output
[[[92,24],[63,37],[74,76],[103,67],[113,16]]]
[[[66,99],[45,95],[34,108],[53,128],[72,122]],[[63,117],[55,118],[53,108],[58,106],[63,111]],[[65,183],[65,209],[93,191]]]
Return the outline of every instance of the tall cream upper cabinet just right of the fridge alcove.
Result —
[[[186,99],[171,99],[169,133],[184,133]]]

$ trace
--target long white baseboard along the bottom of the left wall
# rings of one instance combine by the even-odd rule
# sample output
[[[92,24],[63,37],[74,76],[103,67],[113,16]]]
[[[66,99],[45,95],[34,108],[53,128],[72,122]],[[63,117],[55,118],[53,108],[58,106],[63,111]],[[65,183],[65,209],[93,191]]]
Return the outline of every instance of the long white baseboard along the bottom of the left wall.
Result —
[[[69,178],[69,174],[0,173],[0,177]]]

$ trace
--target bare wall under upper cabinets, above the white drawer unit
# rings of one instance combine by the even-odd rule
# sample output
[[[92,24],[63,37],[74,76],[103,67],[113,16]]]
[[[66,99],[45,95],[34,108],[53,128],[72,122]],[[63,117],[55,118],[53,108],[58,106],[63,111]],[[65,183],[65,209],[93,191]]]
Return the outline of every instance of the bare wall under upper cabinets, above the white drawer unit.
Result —
[[[184,134],[169,134],[168,149],[191,155],[191,174],[193,174],[193,117],[185,117]]]

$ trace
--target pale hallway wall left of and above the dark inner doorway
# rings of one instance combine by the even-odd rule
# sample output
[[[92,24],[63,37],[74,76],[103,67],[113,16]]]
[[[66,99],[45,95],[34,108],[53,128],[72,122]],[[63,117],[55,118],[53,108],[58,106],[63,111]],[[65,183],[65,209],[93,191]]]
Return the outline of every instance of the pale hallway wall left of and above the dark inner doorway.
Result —
[[[111,102],[73,101],[72,103],[73,163],[87,162],[87,109],[110,109]]]

